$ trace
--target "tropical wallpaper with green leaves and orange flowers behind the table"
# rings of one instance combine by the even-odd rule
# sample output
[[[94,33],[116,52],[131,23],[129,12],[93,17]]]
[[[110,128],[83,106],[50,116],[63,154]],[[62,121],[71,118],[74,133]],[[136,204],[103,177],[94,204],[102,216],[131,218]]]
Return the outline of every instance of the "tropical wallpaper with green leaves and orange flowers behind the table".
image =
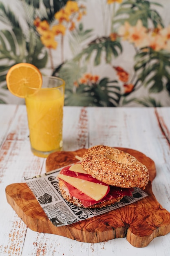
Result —
[[[32,63],[66,81],[65,106],[170,106],[169,0],[0,0],[0,103]]]

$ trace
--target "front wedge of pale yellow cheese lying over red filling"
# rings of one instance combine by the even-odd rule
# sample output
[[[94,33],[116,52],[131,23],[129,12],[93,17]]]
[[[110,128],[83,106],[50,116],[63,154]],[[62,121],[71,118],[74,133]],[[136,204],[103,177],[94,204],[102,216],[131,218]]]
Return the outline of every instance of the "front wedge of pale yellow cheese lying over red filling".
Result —
[[[95,201],[99,201],[100,199],[102,199],[106,195],[108,190],[108,186],[105,186],[103,184],[97,184],[95,182],[91,182],[88,180],[82,180],[76,177],[71,177],[60,173],[58,177],[64,180],[65,182],[68,182],[76,189],[79,189],[84,194],[90,196]]]

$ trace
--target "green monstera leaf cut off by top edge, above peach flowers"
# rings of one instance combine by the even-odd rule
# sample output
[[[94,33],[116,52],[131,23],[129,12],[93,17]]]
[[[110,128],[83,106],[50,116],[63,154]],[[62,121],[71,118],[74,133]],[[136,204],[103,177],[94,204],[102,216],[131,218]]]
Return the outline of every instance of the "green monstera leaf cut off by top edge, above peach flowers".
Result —
[[[114,22],[123,25],[125,21],[128,21],[133,26],[137,23],[137,20],[141,20],[144,27],[148,27],[149,21],[151,21],[154,27],[157,27],[158,24],[163,27],[161,16],[156,10],[152,9],[154,5],[162,6],[156,2],[146,0],[124,1],[116,12]],[[122,15],[125,18],[122,18]]]

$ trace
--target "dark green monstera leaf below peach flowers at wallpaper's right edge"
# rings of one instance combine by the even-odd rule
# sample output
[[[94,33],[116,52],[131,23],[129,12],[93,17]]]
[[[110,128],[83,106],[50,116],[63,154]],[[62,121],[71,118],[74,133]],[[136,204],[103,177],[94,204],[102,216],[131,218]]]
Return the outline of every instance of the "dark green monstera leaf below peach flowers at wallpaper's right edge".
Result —
[[[170,53],[166,51],[140,52],[135,56],[135,70],[139,80],[149,86],[149,92],[158,93],[163,90],[164,82],[170,83]],[[166,87],[168,90],[168,88]]]

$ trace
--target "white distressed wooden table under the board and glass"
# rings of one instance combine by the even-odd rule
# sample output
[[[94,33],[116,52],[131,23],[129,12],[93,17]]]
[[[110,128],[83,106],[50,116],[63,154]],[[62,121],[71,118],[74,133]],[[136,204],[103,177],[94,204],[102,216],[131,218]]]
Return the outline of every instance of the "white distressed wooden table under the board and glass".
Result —
[[[45,172],[46,159],[31,153],[26,108],[0,104],[0,255],[4,256],[169,256],[170,233],[135,248],[126,238],[81,243],[32,231],[7,203],[8,184]],[[170,108],[64,107],[64,148],[103,144],[139,150],[155,161],[152,191],[170,211]]]

